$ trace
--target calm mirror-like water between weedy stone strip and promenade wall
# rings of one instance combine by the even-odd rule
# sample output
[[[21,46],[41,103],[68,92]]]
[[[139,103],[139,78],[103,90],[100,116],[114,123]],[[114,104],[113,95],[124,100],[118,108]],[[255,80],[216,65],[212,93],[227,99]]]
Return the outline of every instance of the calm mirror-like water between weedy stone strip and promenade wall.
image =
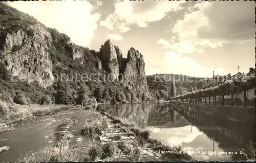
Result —
[[[167,103],[99,105],[114,117],[124,117],[152,130],[152,136],[168,145],[182,145],[185,151],[206,151],[190,155],[197,160],[239,160],[240,152],[254,141],[255,127],[228,122],[196,110]],[[216,152],[209,153],[209,151]]]

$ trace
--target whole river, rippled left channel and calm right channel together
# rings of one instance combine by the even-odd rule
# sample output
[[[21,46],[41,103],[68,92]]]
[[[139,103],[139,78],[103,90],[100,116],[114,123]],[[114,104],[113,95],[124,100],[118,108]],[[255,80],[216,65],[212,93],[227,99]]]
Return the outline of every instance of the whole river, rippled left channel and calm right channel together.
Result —
[[[167,145],[181,145],[187,152],[207,152],[190,153],[196,160],[238,160],[239,154],[210,154],[208,151],[240,152],[242,148],[247,149],[248,142],[255,142],[255,126],[224,121],[195,110],[186,111],[168,103],[100,104],[97,110],[132,120],[150,129],[152,137]],[[72,117],[86,117],[85,110],[68,110],[14,123],[16,130],[0,132],[0,146],[10,147],[0,154],[0,162],[23,160],[31,151],[42,154],[45,147],[57,141],[59,132]]]

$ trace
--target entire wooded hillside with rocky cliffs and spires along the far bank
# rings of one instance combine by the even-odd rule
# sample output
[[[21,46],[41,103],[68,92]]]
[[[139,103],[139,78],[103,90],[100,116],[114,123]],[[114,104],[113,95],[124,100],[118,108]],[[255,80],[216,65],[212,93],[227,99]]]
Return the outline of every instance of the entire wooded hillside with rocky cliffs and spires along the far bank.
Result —
[[[173,96],[170,82],[145,76],[143,56],[134,48],[123,58],[110,40],[99,52],[78,46],[66,34],[3,3],[0,59],[0,99],[4,101],[137,103]],[[194,85],[197,89],[197,83]],[[176,87],[178,92],[190,89],[183,81]]]

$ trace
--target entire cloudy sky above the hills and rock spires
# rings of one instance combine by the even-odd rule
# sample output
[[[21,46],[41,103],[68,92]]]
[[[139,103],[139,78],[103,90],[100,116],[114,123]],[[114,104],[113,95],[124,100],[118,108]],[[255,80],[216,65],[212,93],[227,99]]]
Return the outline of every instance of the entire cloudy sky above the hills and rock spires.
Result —
[[[123,56],[131,47],[146,75],[212,77],[248,73],[255,64],[253,1],[8,2],[78,45],[99,51],[107,39]]]

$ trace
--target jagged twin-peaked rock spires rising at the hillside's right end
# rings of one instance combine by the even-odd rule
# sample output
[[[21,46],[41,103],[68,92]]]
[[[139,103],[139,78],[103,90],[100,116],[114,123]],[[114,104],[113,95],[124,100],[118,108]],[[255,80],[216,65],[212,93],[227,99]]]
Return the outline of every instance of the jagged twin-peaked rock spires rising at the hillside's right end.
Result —
[[[122,57],[118,46],[107,40],[101,46],[99,58],[106,72],[113,75],[113,79],[120,81],[134,92],[148,94],[145,75],[145,63],[142,54],[131,48],[127,58]]]

